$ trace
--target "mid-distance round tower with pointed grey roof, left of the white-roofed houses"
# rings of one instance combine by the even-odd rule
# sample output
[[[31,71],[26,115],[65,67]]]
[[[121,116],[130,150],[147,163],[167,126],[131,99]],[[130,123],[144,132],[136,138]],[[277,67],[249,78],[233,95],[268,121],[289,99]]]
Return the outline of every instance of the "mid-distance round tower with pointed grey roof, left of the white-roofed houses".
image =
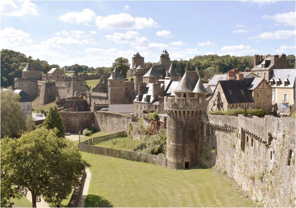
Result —
[[[126,79],[119,72],[117,66],[108,78],[108,101],[109,104],[126,103]]]

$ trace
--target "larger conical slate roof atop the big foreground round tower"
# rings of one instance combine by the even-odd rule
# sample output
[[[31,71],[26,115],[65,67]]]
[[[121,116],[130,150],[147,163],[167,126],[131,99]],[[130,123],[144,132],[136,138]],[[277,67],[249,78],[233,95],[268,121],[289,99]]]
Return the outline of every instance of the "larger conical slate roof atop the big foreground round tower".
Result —
[[[196,71],[186,71],[175,92],[192,92],[198,80]]]

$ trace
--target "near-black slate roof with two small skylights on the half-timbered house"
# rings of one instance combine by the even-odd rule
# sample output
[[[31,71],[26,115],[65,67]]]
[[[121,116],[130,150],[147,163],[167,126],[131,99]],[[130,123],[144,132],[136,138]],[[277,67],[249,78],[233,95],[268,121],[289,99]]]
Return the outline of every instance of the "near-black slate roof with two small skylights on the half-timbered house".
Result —
[[[219,81],[219,83],[229,104],[255,102],[249,90],[247,90],[247,86],[243,80],[224,80]],[[229,90],[231,93],[229,93]]]

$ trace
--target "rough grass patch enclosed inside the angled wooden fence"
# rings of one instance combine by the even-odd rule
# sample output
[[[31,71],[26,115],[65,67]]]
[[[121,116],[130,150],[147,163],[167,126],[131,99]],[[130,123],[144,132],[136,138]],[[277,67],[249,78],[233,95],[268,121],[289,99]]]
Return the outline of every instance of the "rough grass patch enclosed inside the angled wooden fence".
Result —
[[[107,147],[117,150],[133,151],[133,148],[141,143],[140,140],[131,139],[129,137],[118,137],[112,140],[103,141],[94,146]]]

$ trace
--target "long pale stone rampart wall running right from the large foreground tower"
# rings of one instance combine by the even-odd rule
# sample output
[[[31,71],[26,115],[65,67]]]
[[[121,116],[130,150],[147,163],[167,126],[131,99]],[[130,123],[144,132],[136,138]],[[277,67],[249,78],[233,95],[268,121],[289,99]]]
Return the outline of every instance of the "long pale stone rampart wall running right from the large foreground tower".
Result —
[[[259,205],[295,207],[294,119],[208,114],[204,131],[202,165],[233,177]]]

